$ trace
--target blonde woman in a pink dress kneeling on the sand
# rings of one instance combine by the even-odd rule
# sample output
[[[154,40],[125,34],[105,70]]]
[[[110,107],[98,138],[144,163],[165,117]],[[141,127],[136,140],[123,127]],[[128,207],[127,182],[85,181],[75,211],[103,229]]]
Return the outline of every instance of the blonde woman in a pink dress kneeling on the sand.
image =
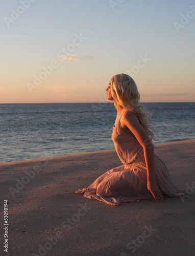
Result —
[[[175,188],[166,166],[154,154],[153,129],[148,114],[139,104],[135,81],[126,74],[115,75],[106,91],[117,110],[111,138],[124,165],[109,170],[87,189],[76,193],[110,205],[153,197],[160,202],[163,196],[184,195]]]

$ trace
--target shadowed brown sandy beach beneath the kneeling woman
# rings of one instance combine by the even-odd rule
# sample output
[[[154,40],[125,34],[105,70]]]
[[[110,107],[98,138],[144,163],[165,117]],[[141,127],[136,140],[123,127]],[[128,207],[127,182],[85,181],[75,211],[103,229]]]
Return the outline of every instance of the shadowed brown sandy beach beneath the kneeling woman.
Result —
[[[1,163],[1,255],[195,255],[194,152],[195,139],[155,147],[189,197],[118,206],[75,193],[121,165],[115,150]]]

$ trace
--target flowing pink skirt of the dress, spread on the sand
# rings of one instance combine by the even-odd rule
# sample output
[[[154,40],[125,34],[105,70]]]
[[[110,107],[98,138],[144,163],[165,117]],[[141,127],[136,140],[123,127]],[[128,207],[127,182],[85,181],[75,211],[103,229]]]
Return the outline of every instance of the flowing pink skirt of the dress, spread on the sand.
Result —
[[[155,155],[155,179],[163,196],[183,196],[186,193],[176,188],[170,179],[162,160]],[[84,197],[96,199],[109,205],[139,202],[151,199],[153,195],[147,188],[147,167],[144,155],[128,165],[120,165],[97,178],[88,188],[75,191]]]

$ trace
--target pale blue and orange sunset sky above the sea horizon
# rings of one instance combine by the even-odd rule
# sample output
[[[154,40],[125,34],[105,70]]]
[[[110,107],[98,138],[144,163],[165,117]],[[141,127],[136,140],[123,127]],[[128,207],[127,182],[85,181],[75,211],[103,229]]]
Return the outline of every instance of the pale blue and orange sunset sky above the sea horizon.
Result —
[[[194,102],[195,1],[2,0],[0,103],[108,102],[113,75],[141,102]]]

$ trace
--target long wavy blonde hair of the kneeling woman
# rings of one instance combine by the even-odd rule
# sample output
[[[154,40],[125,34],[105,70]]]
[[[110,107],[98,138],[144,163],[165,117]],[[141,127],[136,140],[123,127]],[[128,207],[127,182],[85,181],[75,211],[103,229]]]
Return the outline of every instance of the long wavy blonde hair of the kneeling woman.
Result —
[[[113,99],[125,109],[133,112],[151,141],[156,140],[153,134],[154,129],[150,124],[150,114],[143,111],[143,106],[139,103],[140,95],[135,81],[129,75],[118,74],[112,77],[110,87]]]

